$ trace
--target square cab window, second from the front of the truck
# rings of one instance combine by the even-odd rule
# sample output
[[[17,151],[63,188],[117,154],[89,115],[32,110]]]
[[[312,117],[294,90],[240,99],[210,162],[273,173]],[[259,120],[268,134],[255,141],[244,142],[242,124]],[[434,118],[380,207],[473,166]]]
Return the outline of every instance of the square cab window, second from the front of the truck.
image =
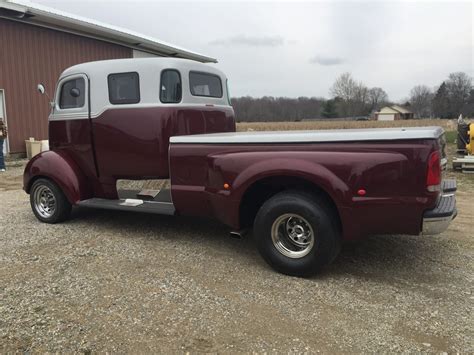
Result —
[[[136,104],[140,102],[138,73],[117,73],[107,77],[111,104]]]

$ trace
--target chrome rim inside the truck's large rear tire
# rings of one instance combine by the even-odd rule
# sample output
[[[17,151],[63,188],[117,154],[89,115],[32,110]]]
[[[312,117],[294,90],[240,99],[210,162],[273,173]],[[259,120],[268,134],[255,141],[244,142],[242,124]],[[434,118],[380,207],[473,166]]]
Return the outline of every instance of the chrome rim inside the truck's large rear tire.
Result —
[[[273,245],[289,258],[298,259],[308,255],[313,249],[314,238],[311,225],[297,214],[286,213],[273,222]]]

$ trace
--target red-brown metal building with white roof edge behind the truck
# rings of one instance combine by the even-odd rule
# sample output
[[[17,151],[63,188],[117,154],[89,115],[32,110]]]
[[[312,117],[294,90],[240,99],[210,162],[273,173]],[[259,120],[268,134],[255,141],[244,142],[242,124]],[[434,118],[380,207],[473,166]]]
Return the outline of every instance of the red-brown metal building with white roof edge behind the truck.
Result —
[[[25,152],[24,140],[48,138],[49,104],[61,72],[104,59],[171,56],[216,62],[135,32],[21,0],[0,0],[0,118],[7,121],[7,152]]]

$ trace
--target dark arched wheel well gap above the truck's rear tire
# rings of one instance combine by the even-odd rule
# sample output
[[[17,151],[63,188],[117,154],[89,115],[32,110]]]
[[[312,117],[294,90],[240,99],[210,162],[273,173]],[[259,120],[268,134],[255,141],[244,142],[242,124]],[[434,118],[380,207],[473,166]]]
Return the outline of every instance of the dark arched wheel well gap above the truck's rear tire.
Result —
[[[239,216],[241,228],[251,227],[262,205],[279,192],[285,190],[305,191],[322,199],[337,218],[342,229],[339,210],[331,196],[318,185],[295,176],[271,176],[254,182],[244,193],[240,203]]]

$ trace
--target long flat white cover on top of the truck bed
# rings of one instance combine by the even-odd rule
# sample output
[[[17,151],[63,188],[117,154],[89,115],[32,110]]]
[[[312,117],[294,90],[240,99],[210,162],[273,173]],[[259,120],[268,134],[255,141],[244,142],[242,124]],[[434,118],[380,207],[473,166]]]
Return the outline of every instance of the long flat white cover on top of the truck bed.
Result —
[[[318,131],[253,131],[175,136],[170,143],[183,144],[268,144],[436,139],[441,127],[333,129]]]

